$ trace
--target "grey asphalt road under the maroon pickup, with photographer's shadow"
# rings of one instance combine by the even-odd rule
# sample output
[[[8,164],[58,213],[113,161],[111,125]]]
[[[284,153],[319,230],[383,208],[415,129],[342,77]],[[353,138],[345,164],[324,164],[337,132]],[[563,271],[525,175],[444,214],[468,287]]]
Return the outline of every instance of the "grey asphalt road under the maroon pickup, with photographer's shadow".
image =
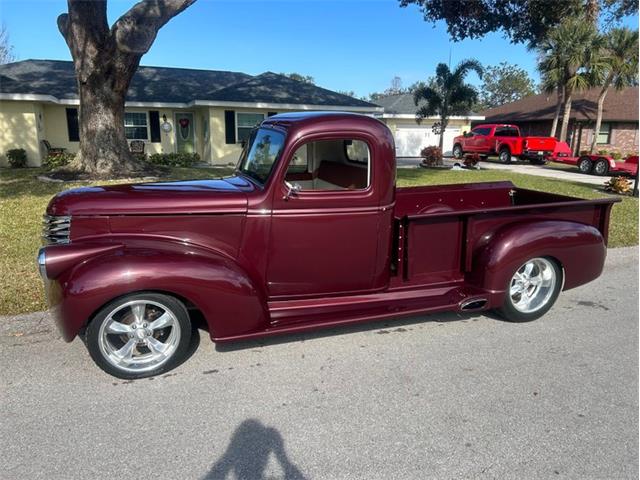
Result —
[[[0,319],[3,479],[638,478],[638,253],[529,324],[417,317],[252,342],[155,379]]]

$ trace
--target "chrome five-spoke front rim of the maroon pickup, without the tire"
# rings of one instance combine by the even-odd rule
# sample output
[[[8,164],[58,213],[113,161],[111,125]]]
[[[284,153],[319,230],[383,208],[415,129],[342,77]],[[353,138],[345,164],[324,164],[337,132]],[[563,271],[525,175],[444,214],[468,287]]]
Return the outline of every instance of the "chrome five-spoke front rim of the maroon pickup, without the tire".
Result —
[[[181,328],[162,303],[133,300],[109,312],[98,332],[104,359],[118,370],[142,373],[157,369],[175,353]]]

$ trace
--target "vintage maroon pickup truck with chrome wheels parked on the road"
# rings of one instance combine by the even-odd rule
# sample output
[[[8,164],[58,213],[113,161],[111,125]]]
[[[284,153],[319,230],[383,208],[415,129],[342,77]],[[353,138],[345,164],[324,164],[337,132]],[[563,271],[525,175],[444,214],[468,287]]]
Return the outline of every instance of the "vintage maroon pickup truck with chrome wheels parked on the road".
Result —
[[[66,341],[121,378],[213,341],[453,310],[522,322],[600,275],[612,199],[509,182],[397,188],[376,119],[287,113],[234,175],[54,197],[38,255]]]

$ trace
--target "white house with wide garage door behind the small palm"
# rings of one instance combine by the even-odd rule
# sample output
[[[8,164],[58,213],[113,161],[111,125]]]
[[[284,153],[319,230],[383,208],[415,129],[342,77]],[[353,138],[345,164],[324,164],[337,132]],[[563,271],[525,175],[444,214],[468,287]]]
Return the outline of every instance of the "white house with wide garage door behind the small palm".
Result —
[[[430,145],[438,145],[440,135],[434,133],[433,125],[439,118],[428,117],[419,124],[416,122],[417,107],[410,93],[388,95],[376,100],[384,108],[383,113],[376,114],[393,132],[396,141],[396,155],[402,157],[419,157],[420,150]],[[449,118],[449,125],[444,132],[443,153],[451,153],[453,139],[470,130],[472,121],[484,120],[481,115],[468,114]]]

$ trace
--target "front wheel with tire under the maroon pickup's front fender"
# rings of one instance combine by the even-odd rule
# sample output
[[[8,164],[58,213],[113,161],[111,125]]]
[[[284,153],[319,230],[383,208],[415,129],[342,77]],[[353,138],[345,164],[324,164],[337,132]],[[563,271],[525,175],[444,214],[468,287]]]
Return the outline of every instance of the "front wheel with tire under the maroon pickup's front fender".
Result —
[[[91,358],[105,372],[135,379],[178,365],[191,341],[182,302],[158,293],[126,295],[103,307],[87,327]]]

